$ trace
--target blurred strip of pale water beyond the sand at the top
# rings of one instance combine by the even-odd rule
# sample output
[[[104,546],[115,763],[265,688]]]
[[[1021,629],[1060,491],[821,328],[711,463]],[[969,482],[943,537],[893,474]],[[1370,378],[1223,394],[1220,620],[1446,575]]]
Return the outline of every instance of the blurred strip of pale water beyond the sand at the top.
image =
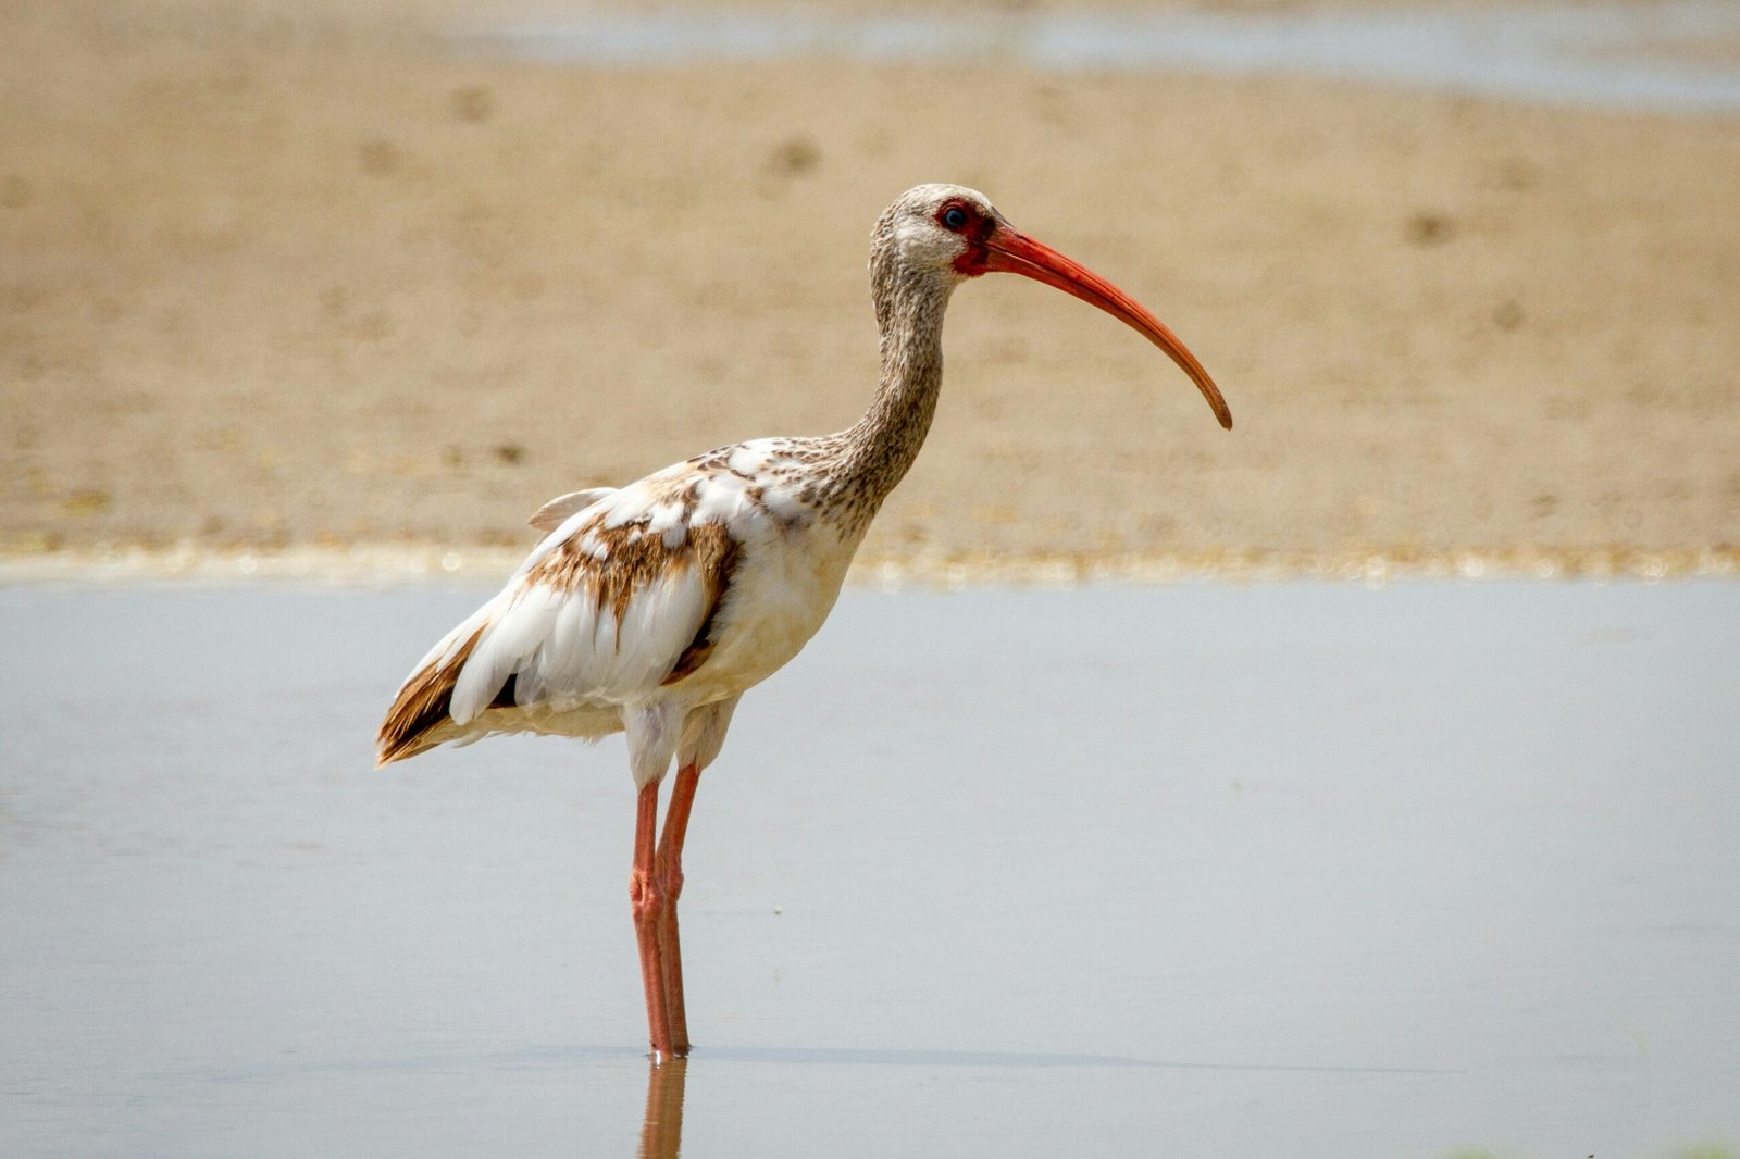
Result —
[[[1740,110],[1740,5],[1446,5],[1348,12],[724,12],[656,7],[472,26],[475,50],[593,66],[835,57],[1302,75],[1550,104]],[[1728,45],[1710,52],[1712,45]]]

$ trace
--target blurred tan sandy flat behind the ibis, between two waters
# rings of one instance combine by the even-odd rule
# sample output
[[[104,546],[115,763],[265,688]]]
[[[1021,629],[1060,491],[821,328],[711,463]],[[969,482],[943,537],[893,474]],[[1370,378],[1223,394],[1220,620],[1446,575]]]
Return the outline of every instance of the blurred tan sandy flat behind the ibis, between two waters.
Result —
[[[947,179],[1237,426],[1081,303],[967,285],[872,566],[1740,559],[1740,117],[449,38],[513,10],[0,7],[0,555],[517,550],[553,494],[840,428],[870,223]]]

